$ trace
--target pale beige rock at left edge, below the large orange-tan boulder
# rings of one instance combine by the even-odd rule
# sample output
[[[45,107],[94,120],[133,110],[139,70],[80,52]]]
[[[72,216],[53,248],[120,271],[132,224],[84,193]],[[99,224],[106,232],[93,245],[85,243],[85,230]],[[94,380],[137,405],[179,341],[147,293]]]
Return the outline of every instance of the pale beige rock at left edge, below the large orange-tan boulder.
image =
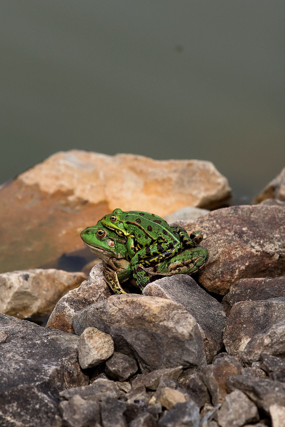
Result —
[[[23,319],[50,313],[59,298],[76,288],[84,273],[31,269],[0,274],[0,313]]]

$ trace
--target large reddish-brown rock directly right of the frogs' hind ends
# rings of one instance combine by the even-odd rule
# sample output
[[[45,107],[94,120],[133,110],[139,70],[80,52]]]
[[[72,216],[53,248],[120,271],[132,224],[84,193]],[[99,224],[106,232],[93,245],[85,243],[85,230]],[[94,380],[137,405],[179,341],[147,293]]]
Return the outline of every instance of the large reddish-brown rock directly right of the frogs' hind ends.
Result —
[[[203,234],[201,246],[209,251],[209,260],[197,277],[211,292],[224,295],[239,279],[276,277],[285,272],[281,206],[232,206],[179,225]]]

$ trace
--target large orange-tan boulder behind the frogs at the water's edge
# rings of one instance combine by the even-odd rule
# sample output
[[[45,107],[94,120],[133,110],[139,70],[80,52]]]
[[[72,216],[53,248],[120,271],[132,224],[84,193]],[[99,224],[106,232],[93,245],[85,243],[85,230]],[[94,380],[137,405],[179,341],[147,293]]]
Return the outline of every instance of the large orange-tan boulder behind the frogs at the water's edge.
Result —
[[[83,247],[80,231],[115,208],[164,216],[230,196],[211,162],[58,152],[0,189],[0,272],[43,266]]]

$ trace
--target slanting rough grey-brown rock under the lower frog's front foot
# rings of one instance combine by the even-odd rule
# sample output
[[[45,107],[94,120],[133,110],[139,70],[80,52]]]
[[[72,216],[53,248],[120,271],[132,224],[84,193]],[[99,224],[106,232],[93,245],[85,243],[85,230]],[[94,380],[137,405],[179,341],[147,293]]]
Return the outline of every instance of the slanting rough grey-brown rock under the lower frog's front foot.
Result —
[[[74,333],[73,314],[94,302],[104,301],[111,290],[104,280],[102,264],[91,269],[88,278],[77,288],[69,291],[58,301],[47,322],[47,328],[56,328]]]

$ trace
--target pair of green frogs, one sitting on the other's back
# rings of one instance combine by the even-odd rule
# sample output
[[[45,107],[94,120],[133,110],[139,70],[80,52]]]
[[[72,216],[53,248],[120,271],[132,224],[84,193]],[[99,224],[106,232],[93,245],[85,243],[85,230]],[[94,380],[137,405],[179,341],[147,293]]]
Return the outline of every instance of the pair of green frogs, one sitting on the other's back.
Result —
[[[140,211],[115,209],[94,227],[83,230],[81,237],[109,266],[117,268],[120,263],[114,280],[105,271],[116,293],[123,291],[120,283],[131,276],[142,290],[153,274],[195,273],[209,255],[206,249],[197,247],[203,239],[200,232],[194,231],[188,237],[183,228],[170,226],[160,216]],[[122,266],[123,259],[126,263]]]

